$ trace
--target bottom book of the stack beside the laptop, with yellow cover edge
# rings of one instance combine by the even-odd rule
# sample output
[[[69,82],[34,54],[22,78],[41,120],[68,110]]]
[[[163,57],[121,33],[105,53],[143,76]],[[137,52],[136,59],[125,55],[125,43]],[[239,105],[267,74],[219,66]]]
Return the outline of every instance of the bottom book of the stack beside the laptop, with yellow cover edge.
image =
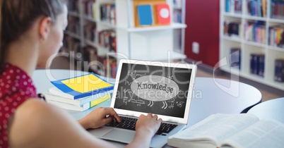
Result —
[[[87,109],[92,108],[93,106],[96,106],[97,104],[102,103],[103,101],[107,101],[108,99],[110,99],[110,94],[107,94],[104,97],[97,98],[93,101],[89,101],[88,103],[85,103],[81,106],[76,106],[73,104],[66,104],[60,101],[54,101],[50,99],[50,97],[47,95],[45,95],[45,99],[47,100],[47,103],[53,104],[54,106],[58,106],[61,109],[68,109],[68,110],[73,110],[73,111],[85,111]]]

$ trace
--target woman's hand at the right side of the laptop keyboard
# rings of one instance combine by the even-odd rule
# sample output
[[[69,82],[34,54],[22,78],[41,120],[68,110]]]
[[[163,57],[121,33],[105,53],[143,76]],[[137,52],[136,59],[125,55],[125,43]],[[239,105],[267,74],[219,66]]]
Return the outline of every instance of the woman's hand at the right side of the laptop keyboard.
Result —
[[[136,132],[140,132],[141,130],[150,132],[151,137],[155,135],[155,132],[160,128],[160,124],[162,123],[162,119],[158,118],[157,115],[152,115],[152,113],[148,113],[147,116],[141,115],[138,118],[136,123]]]

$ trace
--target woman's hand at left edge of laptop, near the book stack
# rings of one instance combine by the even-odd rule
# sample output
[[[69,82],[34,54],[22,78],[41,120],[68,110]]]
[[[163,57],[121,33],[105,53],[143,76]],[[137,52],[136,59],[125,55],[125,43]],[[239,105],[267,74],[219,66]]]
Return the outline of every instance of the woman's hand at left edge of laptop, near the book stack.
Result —
[[[90,112],[87,116],[85,116],[78,122],[85,129],[100,128],[102,125],[105,125],[112,121],[113,118],[115,118],[117,122],[121,122],[120,117],[117,115],[117,112],[115,112],[114,109],[99,107]]]

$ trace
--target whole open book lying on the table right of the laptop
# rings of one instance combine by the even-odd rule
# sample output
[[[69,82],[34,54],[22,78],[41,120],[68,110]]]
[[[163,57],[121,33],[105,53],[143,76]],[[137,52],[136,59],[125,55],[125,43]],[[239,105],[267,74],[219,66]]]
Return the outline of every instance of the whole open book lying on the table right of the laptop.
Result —
[[[284,124],[252,114],[213,114],[168,137],[173,147],[283,147]]]

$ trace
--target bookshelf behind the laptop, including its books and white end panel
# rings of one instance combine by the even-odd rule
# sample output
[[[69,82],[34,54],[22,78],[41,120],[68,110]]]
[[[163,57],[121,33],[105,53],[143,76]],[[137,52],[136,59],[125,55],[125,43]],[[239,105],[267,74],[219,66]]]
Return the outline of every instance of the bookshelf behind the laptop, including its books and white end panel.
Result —
[[[177,7],[172,0],[154,0],[154,2],[169,5],[171,16],[169,25],[136,27],[134,11],[136,4],[151,4],[153,0],[69,0],[71,29],[66,30],[65,40],[67,43],[73,39],[79,41],[81,50],[77,51],[83,54],[81,62],[88,61],[85,65],[90,68],[87,69],[107,77],[114,76],[111,74],[114,66],[110,61],[116,63],[122,58],[148,61],[172,61],[186,58],[182,49],[184,42],[181,42],[179,49],[174,47],[174,30],[187,27],[184,23],[174,22],[173,11]],[[105,9],[102,8],[104,6]],[[104,13],[106,11],[107,13]],[[102,44],[102,40],[105,42],[105,37],[109,36],[113,36],[114,42],[107,39],[107,42],[111,43]],[[76,51],[74,52],[76,56]],[[89,64],[92,60],[97,61],[96,66]]]

